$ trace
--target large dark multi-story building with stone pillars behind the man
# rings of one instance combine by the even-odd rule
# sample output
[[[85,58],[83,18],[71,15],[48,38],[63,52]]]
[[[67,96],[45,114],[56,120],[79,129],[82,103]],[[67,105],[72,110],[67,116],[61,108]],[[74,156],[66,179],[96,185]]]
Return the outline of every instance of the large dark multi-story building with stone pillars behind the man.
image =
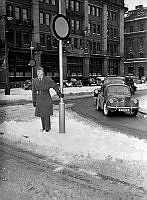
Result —
[[[9,81],[31,79],[32,70],[28,65],[31,55],[36,67],[43,66],[46,75],[58,79],[58,40],[51,31],[51,18],[59,10],[58,1],[1,1],[4,4],[0,8],[5,10],[2,14],[5,16],[3,32],[6,38],[3,52],[7,54]],[[61,1],[62,13],[70,22],[69,39],[63,41],[64,78],[123,75],[124,0]]]

